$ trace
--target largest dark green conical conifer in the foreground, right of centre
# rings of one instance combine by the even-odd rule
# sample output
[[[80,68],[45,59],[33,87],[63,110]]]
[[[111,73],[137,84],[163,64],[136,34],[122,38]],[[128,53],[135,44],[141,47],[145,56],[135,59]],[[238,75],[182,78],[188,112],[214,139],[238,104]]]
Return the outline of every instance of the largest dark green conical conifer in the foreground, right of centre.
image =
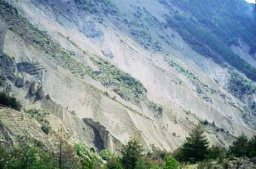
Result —
[[[178,157],[181,161],[195,163],[207,157],[209,142],[203,133],[204,129],[200,124],[192,129],[189,137],[181,146],[180,157]]]

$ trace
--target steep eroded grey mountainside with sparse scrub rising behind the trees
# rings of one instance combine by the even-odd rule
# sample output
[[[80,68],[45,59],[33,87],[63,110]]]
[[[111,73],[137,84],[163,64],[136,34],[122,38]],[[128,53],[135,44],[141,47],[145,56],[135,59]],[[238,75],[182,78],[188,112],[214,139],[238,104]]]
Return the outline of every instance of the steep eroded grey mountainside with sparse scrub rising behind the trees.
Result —
[[[204,120],[215,124],[205,126],[212,143],[255,134],[255,40],[247,41],[255,14],[246,2],[226,2],[224,19],[217,0],[209,9],[204,1],[0,2],[1,77],[25,108],[55,113],[75,140],[116,151],[135,136],[174,150]]]

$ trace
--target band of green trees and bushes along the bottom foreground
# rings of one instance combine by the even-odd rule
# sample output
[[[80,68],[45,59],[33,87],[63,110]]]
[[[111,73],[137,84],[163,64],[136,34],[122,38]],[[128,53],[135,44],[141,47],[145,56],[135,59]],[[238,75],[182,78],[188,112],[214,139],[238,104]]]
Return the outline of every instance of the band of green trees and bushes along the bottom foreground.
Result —
[[[102,150],[100,155],[106,162],[103,162],[93,147],[89,148],[80,143],[70,146],[61,138],[57,141],[55,151],[46,150],[46,147],[38,141],[32,144],[33,146],[27,143],[16,147],[0,144],[0,168],[178,169],[230,168],[234,165],[246,167],[246,164],[255,168],[255,163],[243,157],[251,159],[256,157],[256,136],[248,139],[242,134],[229,146],[228,150],[218,145],[209,147],[208,143],[203,128],[196,125],[183,145],[174,153],[160,150],[154,145],[151,145],[150,152],[146,152],[138,140],[131,138],[122,146],[119,156],[110,154],[108,150]],[[236,158],[242,160],[238,161]],[[191,166],[191,163],[196,164]]]

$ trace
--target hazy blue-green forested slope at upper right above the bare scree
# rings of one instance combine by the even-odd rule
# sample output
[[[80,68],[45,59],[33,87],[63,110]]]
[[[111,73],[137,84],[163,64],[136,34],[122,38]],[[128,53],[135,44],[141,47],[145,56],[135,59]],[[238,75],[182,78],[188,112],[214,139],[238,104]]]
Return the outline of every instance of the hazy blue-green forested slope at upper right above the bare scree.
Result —
[[[171,1],[177,12],[170,26],[197,52],[219,64],[227,62],[248,78],[256,80],[256,69],[229,49],[231,45],[247,44],[255,62],[255,8],[244,1]],[[248,13],[247,13],[248,12]],[[187,16],[186,16],[187,15]],[[207,45],[207,46],[206,46]],[[212,49],[212,52],[209,49]],[[238,64],[239,63],[239,64]]]

